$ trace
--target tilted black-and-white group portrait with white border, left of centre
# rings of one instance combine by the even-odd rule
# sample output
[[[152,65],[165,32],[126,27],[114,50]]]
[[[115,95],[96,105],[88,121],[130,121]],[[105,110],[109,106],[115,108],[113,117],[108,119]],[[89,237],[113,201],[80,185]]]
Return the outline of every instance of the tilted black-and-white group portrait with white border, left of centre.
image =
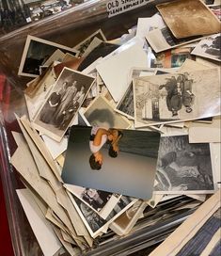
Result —
[[[95,79],[64,68],[55,87],[39,109],[33,125],[43,134],[60,141],[74,120]]]

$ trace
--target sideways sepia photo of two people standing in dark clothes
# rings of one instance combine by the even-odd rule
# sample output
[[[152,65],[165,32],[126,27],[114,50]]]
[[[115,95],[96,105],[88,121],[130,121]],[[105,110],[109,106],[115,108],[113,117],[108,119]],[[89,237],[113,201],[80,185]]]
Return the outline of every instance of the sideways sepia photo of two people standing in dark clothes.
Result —
[[[218,116],[220,89],[217,69],[135,78],[135,127]]]

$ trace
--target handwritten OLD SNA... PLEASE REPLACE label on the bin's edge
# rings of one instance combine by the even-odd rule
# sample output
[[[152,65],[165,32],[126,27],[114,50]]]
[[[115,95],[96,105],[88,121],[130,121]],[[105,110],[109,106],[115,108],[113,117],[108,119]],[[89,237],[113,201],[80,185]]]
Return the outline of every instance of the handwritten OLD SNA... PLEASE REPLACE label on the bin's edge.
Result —
[[[134,8],[145,6],[154,0],[110,0],[106,4],[108,17],[118,15]]]

